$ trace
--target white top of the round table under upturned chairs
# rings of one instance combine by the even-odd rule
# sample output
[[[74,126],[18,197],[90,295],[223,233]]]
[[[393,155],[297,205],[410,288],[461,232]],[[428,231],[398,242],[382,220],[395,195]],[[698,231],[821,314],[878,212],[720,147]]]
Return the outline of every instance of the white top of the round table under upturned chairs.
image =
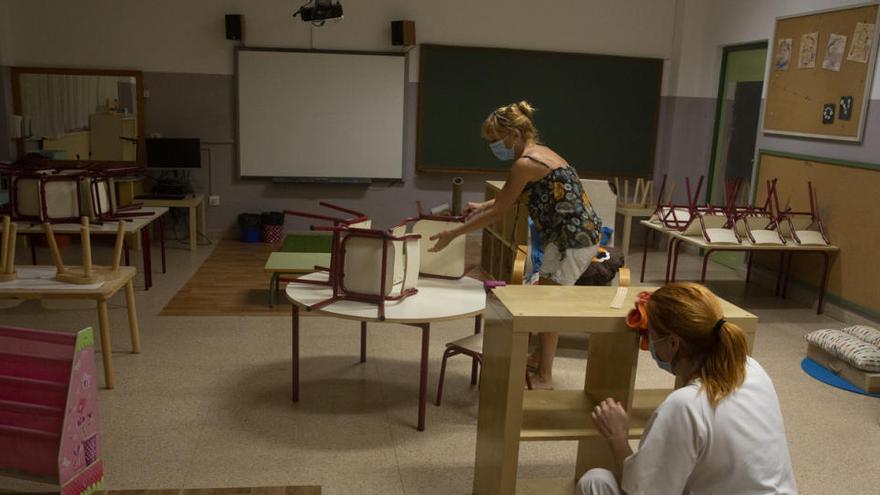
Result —
[[[326,272],[310,273],[300,278],[327,280]],[[386,323],[429,323],[474,316],[486,308],[486,291],[483,283],[470,277],[458,280],[419,278],[418,294],[402,301],[385,302]],[[333,291],[323,285],[291,282],[285,289],[287,299],[305,307],[330,298]],[[337,301],[316,313],[359,321],[379,321],[375,304],[358,301]]]

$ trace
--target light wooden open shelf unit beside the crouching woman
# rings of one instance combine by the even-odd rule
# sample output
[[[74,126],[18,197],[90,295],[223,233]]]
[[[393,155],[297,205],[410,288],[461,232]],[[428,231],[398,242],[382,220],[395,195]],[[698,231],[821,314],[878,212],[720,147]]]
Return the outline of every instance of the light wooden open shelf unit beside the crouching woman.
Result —
[[[610,307],[617,287],[508,285],[493,291],[485,312],[473,493],[571,494],[588,469],[618,469],[590,419],[592,409],[608,397],[620,401],[631,415],[629,436],[637,438],[671,391],[633,389],[639,334],[625,320],[639,290],[630,288],[620,309]],[[724,300],[721,307],[724,318],[745,331],[751,353],[758,318]],[[529,333],[550,329],[590,335],[583,390],[523,390]],[[572,476],[517,480],[520,442],[571,440],[578,442]]]

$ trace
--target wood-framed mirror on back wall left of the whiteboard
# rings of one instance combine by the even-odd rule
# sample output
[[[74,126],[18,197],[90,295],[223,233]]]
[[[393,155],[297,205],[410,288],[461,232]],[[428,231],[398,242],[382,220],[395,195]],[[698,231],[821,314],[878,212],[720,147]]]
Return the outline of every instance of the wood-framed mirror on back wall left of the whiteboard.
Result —
[[[143,74],[129,70],[12,68],[18,157],[62,167],[144,163]]]

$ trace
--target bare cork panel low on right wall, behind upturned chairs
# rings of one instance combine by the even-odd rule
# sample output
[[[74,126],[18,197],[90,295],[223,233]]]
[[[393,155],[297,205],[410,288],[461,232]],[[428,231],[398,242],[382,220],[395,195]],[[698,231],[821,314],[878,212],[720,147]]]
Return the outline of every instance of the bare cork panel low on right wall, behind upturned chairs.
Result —
[[[807,181],[813,182],[819,214],[831,244],[840,247],[832,255],[828,293],[870,314],[880,314],[880,264],[877,263],[877,239],[880,215],[877,191],[880,191],[880,163],[855,163],[842,160],[793,155],[760,150],[755,204],[767,197],[765,181],[778,179],[777,193],[782,209],[809,211]],[[755,257],[757,263],[775,269],[775,253]],[[792,258],[791,276],[818,287],[822,261],[818,255],[799,254]]]

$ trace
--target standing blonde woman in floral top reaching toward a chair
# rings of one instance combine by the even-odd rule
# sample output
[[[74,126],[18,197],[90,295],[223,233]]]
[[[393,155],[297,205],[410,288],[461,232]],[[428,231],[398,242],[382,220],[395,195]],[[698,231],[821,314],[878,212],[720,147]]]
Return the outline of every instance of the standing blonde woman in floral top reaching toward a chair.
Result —
[[[574,285],[596,254],[602,220],[590,205],[574,167],[541,143],[535,109],[520,101],[497,108],[483,121],[482,137],[502,161],[513,160],[510,175],[494,199],[469,203],[468,220],[431,240],[439,251],[452,239],[495,222],[517,201],[528,206],[529,217],[544,240],[541,283]],[[553,359],[559,335],[541,333],[538,350],[529,357],[535,370],[533,388],[552,388]]]

